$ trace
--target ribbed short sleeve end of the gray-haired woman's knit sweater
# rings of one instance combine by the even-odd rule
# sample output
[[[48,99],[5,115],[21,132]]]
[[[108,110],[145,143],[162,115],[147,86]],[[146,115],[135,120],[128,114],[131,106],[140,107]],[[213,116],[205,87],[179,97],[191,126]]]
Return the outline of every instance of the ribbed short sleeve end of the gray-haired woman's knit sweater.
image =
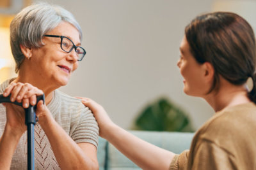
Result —
[[[76,125],[76,129],[71,134],[71,138],[76,143],[92,143],[98,146],[99,127],[89,108],[84,108]]]

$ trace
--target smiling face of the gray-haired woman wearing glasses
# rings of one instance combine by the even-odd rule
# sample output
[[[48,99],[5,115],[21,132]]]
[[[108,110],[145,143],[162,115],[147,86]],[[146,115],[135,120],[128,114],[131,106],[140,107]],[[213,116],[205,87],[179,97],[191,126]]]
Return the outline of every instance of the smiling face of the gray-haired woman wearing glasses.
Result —
[[[68,22],[61,22],[46,34],[66,36],[74,42],[74,45],[81,46],[79,32]],[[58,87],[66,85],[70,75],[78,66],[75,50],[73,49],[70,53],[64,52],[61,49],[61,38],[44,37],[42,41],[44,46],[33,49],[31,60],[34,62],[31,67],[42,74],[48,83]]]

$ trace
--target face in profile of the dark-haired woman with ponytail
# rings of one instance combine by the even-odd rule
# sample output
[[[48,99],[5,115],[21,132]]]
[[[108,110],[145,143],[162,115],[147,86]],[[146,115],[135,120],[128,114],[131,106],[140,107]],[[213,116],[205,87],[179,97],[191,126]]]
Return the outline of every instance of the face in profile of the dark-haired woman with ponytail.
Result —
[[[209,87],[205,85],[205,71],[204,64],[199,64],[195,57],[189,51],[189,44],[186,36],[180,43],[180,59],[177,62],[177,66],[180,69],[180,74],[184,80],[184,92],[189,96],[200,96],[202,97]]]

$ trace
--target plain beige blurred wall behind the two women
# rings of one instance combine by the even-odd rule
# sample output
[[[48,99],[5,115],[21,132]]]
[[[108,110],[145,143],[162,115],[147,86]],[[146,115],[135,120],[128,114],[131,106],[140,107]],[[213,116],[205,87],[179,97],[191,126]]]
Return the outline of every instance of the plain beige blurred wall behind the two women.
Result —
[[[214,111],[203,99],[183,92],[177,60],[184,27],[196,15],[219,10],[235,11],[254,28],[256,25],[256,3],[246,0],[47,2],[74,14],[81,24],[82,46],[87,52],[61,91],[94,99],[125,129],[131,128],[134,118],[148,103],[162,96],[186,111],[198,129]]]

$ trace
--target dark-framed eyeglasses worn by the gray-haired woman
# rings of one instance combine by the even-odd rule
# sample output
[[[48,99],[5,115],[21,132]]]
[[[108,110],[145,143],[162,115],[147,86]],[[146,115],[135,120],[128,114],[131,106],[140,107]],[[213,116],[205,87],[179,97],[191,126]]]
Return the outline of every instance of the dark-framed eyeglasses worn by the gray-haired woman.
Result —
[[[74,45],[73,41],[71,39],[67,38],[66,36],[55,36],[55,35],[44,35],[47,37],[54,37],[54,38],[61,38],[60,41],[60,47],[64,52],[70,53],[74,48],[75,52],[77,54],[77,60],[81,61],[84,58],[84,55],[86,54],[86,51],[81,46]]]

